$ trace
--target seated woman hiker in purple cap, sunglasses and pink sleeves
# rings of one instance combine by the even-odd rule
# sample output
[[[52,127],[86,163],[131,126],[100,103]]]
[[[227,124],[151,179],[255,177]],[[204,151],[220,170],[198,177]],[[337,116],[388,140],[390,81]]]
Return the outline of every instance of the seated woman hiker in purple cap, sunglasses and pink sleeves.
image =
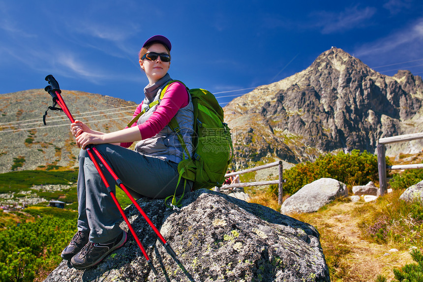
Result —
[[[145,99],[136,108],[133,117],[158,100],[162,89],[172,80],[167,73],[171,47],[170,41],[162,35],[152,36],[144,43],[139,63],[149,84],[144,88]],[[121,214],[88,156],[86,146],[99,144],[95,147],[135,198],[165,198],[173,195],[175,189],[176,195],[180,195],[184,184],[181,182],[176,187],[178,163],[185,153],[182,153],[176,133],[168,126],[173,117],[176,117],[188,152],[192,155],[193,105],[185,86],[179,82],[172,83],[161,101],[129,128],[103,133],[92,130],[81,121],[71,125],[76,144],[82,148],[77,184],[78,232],[62,251],[61,257],[70,260],[74,268],[85,269],[97,264],[123,246],[127,238],[118,224]],[[127,149],[135,141],[139,141],[135,150]],[[185,157],[191,156],[185,154]],[[104,171],[104,175],[109,183],[115,183],[108,171]],[[192,182],[186,181],[186,189],[191,187]]]

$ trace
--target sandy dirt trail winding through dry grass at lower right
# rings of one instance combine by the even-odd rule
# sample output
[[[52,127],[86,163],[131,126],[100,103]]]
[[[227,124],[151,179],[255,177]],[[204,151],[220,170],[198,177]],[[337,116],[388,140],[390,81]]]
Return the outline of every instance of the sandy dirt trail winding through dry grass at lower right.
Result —
[[[369,204],[359,203],[339,203],[331,206],[326,211],[321,223],[325,226],[325,232],[333,232],[337,237],[343,238],[349,244],[352,251],[347,254],[345,263],[351,266],[346,280],[343,281],[374,281],[378,274],[383,274],[388,281],[393,279],[393,267],[402,267],[413,260],[408,250],[400,250],[399,246],[379,245],[369,243],[360,238],[358,228],[359,220],[354,217],[354,208],[357,205]],[[324,221],[324,222],[323,222]],[[399,251],[391,251],[398,249]],[[389,255],[386,255],[389,253]],[[354,277],[354,280],[348,277]]]

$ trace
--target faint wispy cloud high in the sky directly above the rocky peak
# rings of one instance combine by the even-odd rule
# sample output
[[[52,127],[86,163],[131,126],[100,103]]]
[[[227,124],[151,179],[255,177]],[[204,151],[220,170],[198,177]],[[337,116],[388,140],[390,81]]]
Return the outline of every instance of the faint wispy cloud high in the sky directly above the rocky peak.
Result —
[[[328,34],[364,27],[365,22],[372,18],[375,13],[376,8],[374,7],[360,9],[355,6],[338,13],[317,11],[311,13],[310,17],[316,21],[315,27],[321,29],[322,33]]]

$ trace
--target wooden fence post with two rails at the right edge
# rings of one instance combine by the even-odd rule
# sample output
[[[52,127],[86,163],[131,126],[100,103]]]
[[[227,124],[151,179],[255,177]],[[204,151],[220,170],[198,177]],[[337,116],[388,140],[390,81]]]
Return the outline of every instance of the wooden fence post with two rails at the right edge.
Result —
[[[387,166],[386,158],[385,158],[385,153],[386,153],[385,145],[390,143],[405,142],[405,141],[411,141],[411,140],[417,140],[417,139],[423,139],[423,132],[385,137],[385,138],[379,139],[379,144],[377,145],[377,168],[379,171],[379,186],[380,186],[381,195],[384,195],[387,190],[387,182],[386,182],[387,170],[423,168],[423,163]]]

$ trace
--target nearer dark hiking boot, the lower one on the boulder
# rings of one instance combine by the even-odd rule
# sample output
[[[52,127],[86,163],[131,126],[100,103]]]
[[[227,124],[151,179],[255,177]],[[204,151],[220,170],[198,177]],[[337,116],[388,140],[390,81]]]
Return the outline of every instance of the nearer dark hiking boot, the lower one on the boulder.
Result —
[[[103,258],[105,258],[112,251],[121,248],[125,244],[127,234],[122,230],[122,233],[106,243],[92,243],[88,242],[82,250],[72,257],[70,264],[76,269],[85,269],[96,265]]]

